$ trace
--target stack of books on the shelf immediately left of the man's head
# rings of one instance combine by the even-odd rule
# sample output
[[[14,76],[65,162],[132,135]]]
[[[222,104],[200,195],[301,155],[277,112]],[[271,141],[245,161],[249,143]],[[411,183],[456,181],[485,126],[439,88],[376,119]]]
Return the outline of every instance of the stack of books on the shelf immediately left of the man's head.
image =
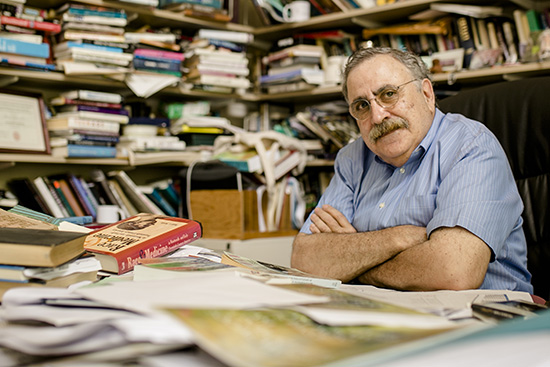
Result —
[[[270,52],[262,59],[267,74],[260,77],[260,85],[270,94],[321,85],[324,83],[324,71],[319,65],[323,56],[322,46],[307,44]]]

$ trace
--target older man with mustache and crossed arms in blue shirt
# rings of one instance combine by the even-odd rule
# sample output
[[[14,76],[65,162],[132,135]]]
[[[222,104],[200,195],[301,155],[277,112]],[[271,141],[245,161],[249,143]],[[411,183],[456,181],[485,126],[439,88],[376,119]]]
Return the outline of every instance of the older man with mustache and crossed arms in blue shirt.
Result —
[[[523,204],[494,135],[438,110],[411,53],[357,51],[343,94],[362,140],[339,152],[292,266],[403,290],[532,292]]]

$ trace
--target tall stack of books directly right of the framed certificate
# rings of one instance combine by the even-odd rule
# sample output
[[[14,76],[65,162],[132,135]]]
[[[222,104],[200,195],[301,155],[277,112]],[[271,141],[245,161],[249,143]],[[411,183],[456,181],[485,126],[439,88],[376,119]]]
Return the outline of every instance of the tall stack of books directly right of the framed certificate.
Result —
[[[52,155],[116,157],[120,126],[129,121],[117,93],[72,90],[53,98],[58,113],[47,121]]]

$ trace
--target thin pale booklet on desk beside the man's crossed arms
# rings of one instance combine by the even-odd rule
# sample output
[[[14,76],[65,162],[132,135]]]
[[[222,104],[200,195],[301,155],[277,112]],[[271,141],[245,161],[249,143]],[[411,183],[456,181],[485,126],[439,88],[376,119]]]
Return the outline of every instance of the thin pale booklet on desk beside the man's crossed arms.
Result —
[[[269,284],[313,284],[326,288],[336,288],[342,284],[338,279],[320,278],[298,269],[260,262],[229,252],[223,253],[221,262],[247,269],[251,276]]]

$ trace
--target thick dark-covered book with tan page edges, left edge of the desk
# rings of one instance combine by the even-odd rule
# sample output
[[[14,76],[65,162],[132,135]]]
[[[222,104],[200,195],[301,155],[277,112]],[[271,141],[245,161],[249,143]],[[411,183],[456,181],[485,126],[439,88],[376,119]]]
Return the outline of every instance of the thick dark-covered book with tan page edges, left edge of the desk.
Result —
[[[0,228],[2,263],[59,266],[84,253],[86,234],[47,229]]]

